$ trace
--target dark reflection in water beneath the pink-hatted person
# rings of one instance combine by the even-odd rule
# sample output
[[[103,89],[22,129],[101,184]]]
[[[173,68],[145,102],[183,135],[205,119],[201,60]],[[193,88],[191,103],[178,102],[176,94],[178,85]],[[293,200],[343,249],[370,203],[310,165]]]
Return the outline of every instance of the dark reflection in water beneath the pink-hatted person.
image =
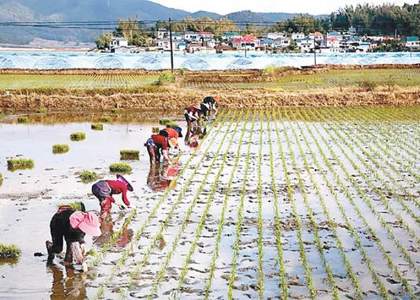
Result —
[[[52,273],[52,287],[50,299],[86,299],[85,272],[73,268],[60,268],[54,264],[47,266]]]

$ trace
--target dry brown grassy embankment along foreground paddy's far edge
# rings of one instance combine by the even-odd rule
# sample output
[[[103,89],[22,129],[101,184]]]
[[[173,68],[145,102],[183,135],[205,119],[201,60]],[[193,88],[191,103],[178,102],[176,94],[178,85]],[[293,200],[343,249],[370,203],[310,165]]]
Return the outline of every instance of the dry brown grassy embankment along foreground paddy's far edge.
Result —
[[[110,94],[61,92],[45,94],[28,92],[2,94],[3,112],[54,110],[108,110],[112,108],[180,109],[199,103],[211,94],[221,97],[222,108],[270,108],[278,106],[412,106],[420,105],[420,88],[376,88],[363,91],[355,88],[334,88],[306,92],[267,90],[188,90],[186,88],[157,88],[153,91]]]

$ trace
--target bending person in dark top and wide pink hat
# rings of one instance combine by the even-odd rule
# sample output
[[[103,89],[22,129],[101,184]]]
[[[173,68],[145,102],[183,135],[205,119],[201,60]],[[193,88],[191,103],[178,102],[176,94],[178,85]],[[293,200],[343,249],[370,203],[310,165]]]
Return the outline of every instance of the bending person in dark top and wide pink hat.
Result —
[[[92,237],[101,235],[97,215],[94,212],[75,211],[71,206],[61,206],[50,221],[50,230],[52,241],[46,241],[48,263],[52,263],[55,253],[61,253],[63,250],[64,237],[66,240],[64,262],[82,264],[83,270],[86,271],[84,237],[85,234]]]

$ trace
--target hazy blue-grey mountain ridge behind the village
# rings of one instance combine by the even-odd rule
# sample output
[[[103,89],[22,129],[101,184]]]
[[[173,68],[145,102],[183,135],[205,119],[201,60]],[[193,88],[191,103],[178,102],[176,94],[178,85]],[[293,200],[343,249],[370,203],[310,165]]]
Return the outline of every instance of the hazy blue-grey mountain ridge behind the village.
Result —
[[[136,15],[141,21],[228,17],[232,21],[272,22],[298,14],[244,10],[223,16],[214,12],[187,12],[167,8],[147,0],[0,0],[0,22],[116,21],[118,18],[134,18]],[[28,43],[28,40],[35,37],[58,41],[93,41],[94,35],[99,33],[92,30],[0,27],[0,43]]]

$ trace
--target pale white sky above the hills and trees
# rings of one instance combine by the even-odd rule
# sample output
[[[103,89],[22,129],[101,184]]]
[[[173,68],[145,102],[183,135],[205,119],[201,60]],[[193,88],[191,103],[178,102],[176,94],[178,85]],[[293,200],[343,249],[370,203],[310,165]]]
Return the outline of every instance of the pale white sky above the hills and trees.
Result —
[[[380,1],[380,0],[150,0],[167,6],[168,8],[178,8],[188,12],[197,12],[198,10],[206,10],[208,12],[217,12],[219,14],[228,14],[230,12],[238,12],[240,10],[252,10],[253,12],[298,12],[308,14],[330,14],[346,5],[357,5],[358,3],[393,3],[399,6],[403,3],[419,3],[419,0],[396,0],[396,1]]]

